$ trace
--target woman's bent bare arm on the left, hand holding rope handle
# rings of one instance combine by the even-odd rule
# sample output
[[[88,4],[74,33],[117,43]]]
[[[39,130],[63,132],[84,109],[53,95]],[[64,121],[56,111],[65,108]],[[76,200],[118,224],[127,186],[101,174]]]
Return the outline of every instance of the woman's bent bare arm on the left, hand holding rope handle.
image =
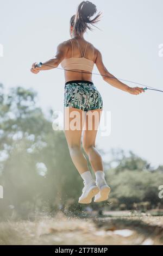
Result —
[[[49,70],[49,69],[57,68],[58,65],[62,62],[62,60],[66,57],[67,51],[68,51],[68,44],[67,44],[67,41],[64,41],[58,45],[57,53],[55,54],[55,57],[53,59],[49,59],[47,62],[42,63],[42,64],[46,64],[49,66],[42,65],[40,68],[38,66],[35,67],[35,65],[37,64],[35,62],[35,63],[33,63],[30,71],[34,74],[37,74],[42,70]],[[53,66],[53,68],[51,66]]]

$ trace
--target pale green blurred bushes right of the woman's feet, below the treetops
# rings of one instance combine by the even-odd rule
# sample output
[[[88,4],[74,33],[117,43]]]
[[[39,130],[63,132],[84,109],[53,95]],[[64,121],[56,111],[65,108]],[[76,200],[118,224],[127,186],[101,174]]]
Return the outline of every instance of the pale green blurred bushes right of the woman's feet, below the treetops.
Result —
[[[133,209],[134,203],[149,201],[156,207],[161,202],[158,196],[158,187],[163,182],[161,172],[124,170],[116,175],[116,170],[112,169],[107,173],[107,179],[112,188],[111,198],[126,204],[127,209]]]

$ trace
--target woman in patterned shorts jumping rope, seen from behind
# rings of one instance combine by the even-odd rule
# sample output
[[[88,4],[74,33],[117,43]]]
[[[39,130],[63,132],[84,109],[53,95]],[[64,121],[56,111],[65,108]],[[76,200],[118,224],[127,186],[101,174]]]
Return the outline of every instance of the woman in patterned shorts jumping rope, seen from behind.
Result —
[[[59,64],[65,69],[64,131],[71,159],[84,180],[82,196],[79,198],[79,203],[82,204],[91,203],[93,197],[95,197],[94,202],[107,200],[110,192],[110,187],[105,181],[102,157],[95,145],[103,111],[103,100],[92,82],[93,66],[96,64],[103,80],[111,86],[134,95],[144,92],[143,88],[131,88],[110,74],[103,63],[101,52],[84,39],[87,29],[92,30],[90,25],[95,26],[94,24],[99,21],[101,13],[98,13],[94,19],[90,19],[96,13],[95,4],[89,1],[80,3],[76,15],[73,15],[70,20],[71,39],[58,45],[57,54],[53,59],[42,63],[40,67],[34,63],[31,69],[34,74],[42,70],[57,68]],[[79,129],[74,129],[74,126],[72,128],[71,121],[74,113],[76,113],[76,121],[80,123]],[[96,117],[92,120],[91,129],[90,114]],[[82,152],[81,141],[95,172],[96,181],[92,178]]]

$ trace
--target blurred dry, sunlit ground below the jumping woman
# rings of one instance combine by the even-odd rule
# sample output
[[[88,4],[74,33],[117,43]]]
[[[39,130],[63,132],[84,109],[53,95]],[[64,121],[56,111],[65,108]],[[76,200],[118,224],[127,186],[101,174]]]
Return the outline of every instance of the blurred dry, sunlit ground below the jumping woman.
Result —
[[[163,216],[68,218],[0,223],[0,245],[162,245]]]

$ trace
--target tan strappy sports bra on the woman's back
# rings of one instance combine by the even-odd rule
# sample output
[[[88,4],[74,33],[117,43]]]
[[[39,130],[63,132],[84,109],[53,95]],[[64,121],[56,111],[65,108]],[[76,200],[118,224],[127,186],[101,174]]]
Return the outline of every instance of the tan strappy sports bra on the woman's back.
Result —
[[[76,41],[78,42],[77,39],[76,39]],[[71,41],[71,44],[72,44],[72,41]],[[78,45],[79,45],[79,42],[78,42]],[[86,43],[86,47],[87,47],[87,43]],[[86,47],[85,47],[85,52],[86,52]],[[79,48],[80,48],[80,45],[79,45]],[[93,58],[94,58],[94,48],[93,48],[93,45],[92,45],[92,50],[93,50]],[[92,58],[92,60],[86,59],[85,58],[85,53],[84,53],[84,56],[83,56],[83,52],[82,52],[81,48],[80,48],[80,51],[82,53],[82,57],[74,58],[73,57],[73,44],[72,44],[72,57],[68,58],[68,59],[62,60],[62,62],[60,63],[62,68],[68,69],[68,70],[79,69],[79,70],[84,70],[84,71],[92,72],[93,66],[95,64],[93,62],[93,58]]]

